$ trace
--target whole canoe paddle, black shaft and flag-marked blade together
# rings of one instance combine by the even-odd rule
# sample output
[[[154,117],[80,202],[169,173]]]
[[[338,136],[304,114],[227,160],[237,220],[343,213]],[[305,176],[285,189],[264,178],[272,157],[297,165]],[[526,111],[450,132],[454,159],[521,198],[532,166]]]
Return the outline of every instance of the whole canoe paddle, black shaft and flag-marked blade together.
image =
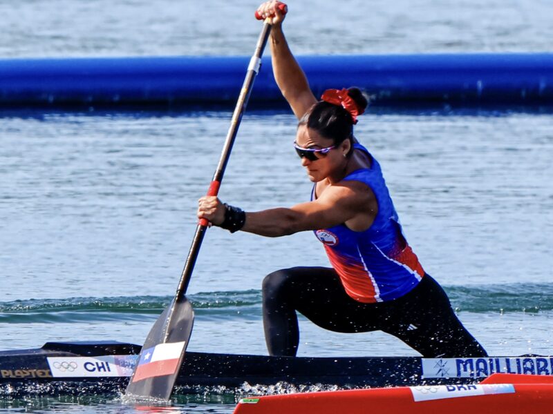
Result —
[[[286,11],[285,7],[284,4],[279,6],[282,12]],[[256,17],[261,19],[257,14]],[[247,68],[242,90],[232,115],[225,146],[221,153],[221,159],[209,185],[207,195],[217,195],[221,181],[223,181],[238,126],[250,98],[254,79],[261,67],[261,55],[263,55],[263,50],[267,44],[270,30],[270,19],[266,19],[254,55]],[[194,311],[185,293],[208,225],[209,222],[206,219],[200,219],[198,222],[175,297],[156,323],[153,324],[144,346],[142,346],[138,364],[136,364],[129,385],[126,387],[126,395],[133,399],[165,400],[167,402],[171,397],[179,368],[185,358],[185,350],[194,324]]]

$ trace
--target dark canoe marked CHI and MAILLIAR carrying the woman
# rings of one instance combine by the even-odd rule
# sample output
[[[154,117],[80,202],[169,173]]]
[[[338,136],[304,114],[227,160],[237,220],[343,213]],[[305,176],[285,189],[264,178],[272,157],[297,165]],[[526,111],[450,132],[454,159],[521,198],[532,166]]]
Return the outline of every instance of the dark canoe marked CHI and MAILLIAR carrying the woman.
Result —
[[[119,393],[140,346],[116,341],[48,342],[0,351],[0,395]],[[187,352],[176,393],[243,393],[247,386],[376,388],[478,384],[493,373],[552,375],[553,357],[270,357]],[[261,388],[261,387],[260,387]]]

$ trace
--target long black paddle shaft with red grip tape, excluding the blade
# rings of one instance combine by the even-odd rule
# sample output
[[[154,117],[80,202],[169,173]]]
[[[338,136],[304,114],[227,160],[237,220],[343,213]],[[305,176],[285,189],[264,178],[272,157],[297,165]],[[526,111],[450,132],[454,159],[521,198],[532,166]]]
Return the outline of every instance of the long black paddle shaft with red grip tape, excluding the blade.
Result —
[[[221,159],[219,159],[218,166],[215,170],[212,182],[207,191],[207,195],[218,195],[219,187],[221,186],[221,181],[223,181],[223,175],[225,175],[225,169],[230,158],[230,152],[232,146],[234,145],[234,140],[236,139],[236,134],[238,132],[238,126],[242,120],[242,116],[245,112],[247,106],[247,101],[250,99],[250,93],[252,92],[252,86],[255,80],[259,68],[261,67],[261,55],[263,55],[263,50],[267,44],[269,34],[271,31],[271,25],[267,21],[263,23],[263,30],[259,35],[257,45],[255,48],[254,55],[250,60],[250,66],[247,68],[246,77],[244,83],[238,96],[238,101],[236,102],[236,107],[234,108],[234,113],[232,115],[232,121],[227,133],[227,138],[225,139],[225,146],[221,152]],[[182,275],[180,276],[180,282],[176,290],[176,300],[182,299],[186,294],[188,284],[192,275],[192,270],[194,270],[194,265],[196,264],[196,259],[198,258],[198,253],[200,251],[200,246],[205,235],[205,230],[209,226],[209,222],[206,219],[200,219],[198,226],[196,227],[196,233],[192,241],[188,257],[186,259],[185,267],[182,270]],[[171,315],[169,315],[169,319]]]

